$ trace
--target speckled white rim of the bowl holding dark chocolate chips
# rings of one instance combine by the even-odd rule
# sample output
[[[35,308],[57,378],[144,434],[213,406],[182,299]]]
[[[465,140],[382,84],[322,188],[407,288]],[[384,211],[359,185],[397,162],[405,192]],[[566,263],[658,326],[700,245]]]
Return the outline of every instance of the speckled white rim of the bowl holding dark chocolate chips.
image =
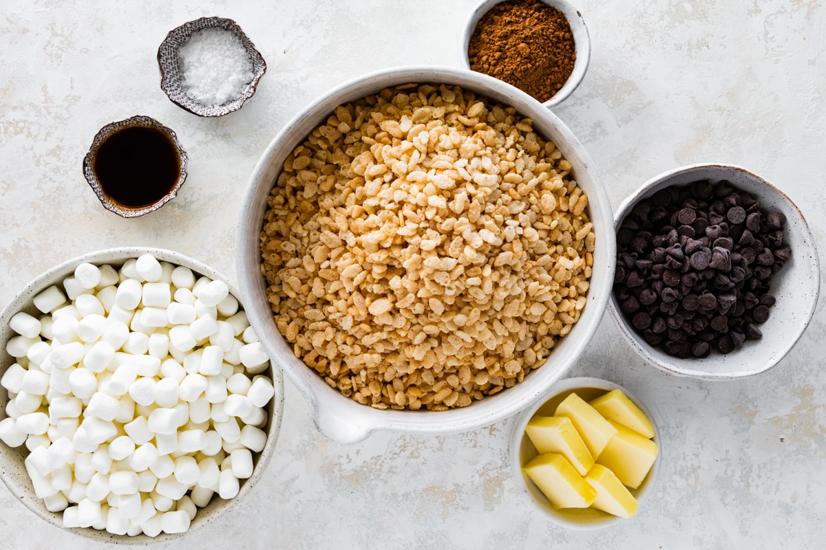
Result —
[[[619,208],[615,211],[615,232],[619,229],[620,224],[628,215],[629,211],[634,207],[634,204],[636,204],[639,200],[653,194],[653,192],[657,189],[668,186],[668,182],[672,181],[673,178],[702,171],[718,173],[719,179],[721,180],[728,179],[726,176],[727,173],[730,176],[731,172],[738,172],[744,178],[753,181],[756,186],[760,186],[767,190],[768,194],[776,195],[781,202],[788,204],[790,210],[795,214],[795,221],[798,223],[797,227],[804,237],[803,242],[800,243],[800,246],[795,248],[795,258],[797,258],[797,255],[800,254],[801,250],[805,251],[805,253],[801,254],[801,256],[804,256],[804,258],[808,260],[808,262],[805,262],[805,266],[808,266],[806,271],[810,275],[811,284],[810,288],[807,289],[807,293],[810,293],[811,299],[807,300],[807,307],[800,310],[800,321],[797,323],[797,328],[792,337],[784,342],[784,345],[779,353],[767,355],[767,360],[763,361],[762,364],[755,366],[753,369],[745,371],[733,371],[731,369],[704,370],[702,369],[702,365],[709,364],[711,360],[714,360],[715,355],[712,355],[711,358],[681,360],[679,358],[666,355],[659,350],[655,350],[652,346],[648,346],[647,343],[642,341],[642,339],[637,336],[636,332],[629,328],[628,323],[619,311],[619,306],[616,303],[613,289],[611,291],[608,303],[608,311],[610,316],[614,319],[615,326],[619,329],[619,332],[624,337],[624,340],[629,343],[629,346],[631,346],[634,351],[636,351],[638,355],[643,358],[643,360],[649,364],[653,364],[653,366],[657,367],[657,369],[661,369],[669,374],[675,374],[676,376],[700,378],[705,380],[733,380],[735,378],[754,376],[771,369],[771,367],[779,363],[790,352],[797,341],[800,340],[800,336],[803,336],[803,333],[809,326],[809,322],[814,316],[814,310],[817,308],[817,303],[819,301],[820,267],[817,247],[814,236],[809,229],[809,224],[806,222],[800,208],[783,191],[778,189],[776,186],[773,186],[761,176],[757,176],[757,174],[749,171],[747,168],[736,164],[700,162],[682,167],[675,167],[667,170],[666,172],[662,172],[661,174],[653,176],[651,179],[643,183],[643,185],[639,186],[637,190],[634,190],[631,195],[626,197],[622,203],[619,204]],[[712,176],[711,179],[714,179],[714,176]],[[787,224],[790,223],[790,221],[787,222]],[[803,260],[804,258],[798,259]],[[689,362],[691,363],[692,368],[688,368]]]

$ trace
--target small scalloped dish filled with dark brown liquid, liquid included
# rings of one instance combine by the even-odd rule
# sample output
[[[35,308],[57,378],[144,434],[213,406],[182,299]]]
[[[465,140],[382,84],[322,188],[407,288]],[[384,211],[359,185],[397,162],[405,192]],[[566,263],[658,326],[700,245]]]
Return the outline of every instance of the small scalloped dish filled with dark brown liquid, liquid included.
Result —
[[[112,172],[112,167],[104,168],[112,172],[112,176],[101,172],[97,161],[104,144],[112,143],[109,140],[114,136],[122,138],[135,129],[143,131],[136,137],[126,138],[127,142],[121,140],[116,145],[119,152],[108,153],[113,158],[108,158],[107,162],[119,165],[116,168],[121,171],[120,175]],[[140,156],[140,151],[146,153],[145,156]],[[187,179],[187,160],[187,152],[172,129],[149,116],[137,115],[111,122],[97,132],[83,157],[83,176],[103,208],[123,218],[137,218],[154,212],[178,196],[178,190]],[[135,176],[137,173],[142,176]],[[122,181],[121,176],[124,176]],[[126,204],[122,197],[131,197],[131,204]]]

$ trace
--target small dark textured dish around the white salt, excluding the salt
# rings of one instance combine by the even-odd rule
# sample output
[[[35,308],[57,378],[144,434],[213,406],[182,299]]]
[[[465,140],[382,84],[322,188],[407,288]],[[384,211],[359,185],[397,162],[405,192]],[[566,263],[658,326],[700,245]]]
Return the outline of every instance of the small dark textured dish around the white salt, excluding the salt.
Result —
[[[178,55],[181,46],[186,44],[193,34],[211,28],[223,29],[235,35],[244,45],[249,59],[252,60],[253,77],[244,91],[235,99],[218,106],[203,105],[188,95],[184,86],[183,67],[181,67],[181,59]],[[201,17],[169,31],[158,49],[158,65],[161,77],[160,87],[164,93],[175,105],[198,116],[223,116],[239,110],[244,106],[244,102],[254,95],[259,80],[267,71],[267,63],[264,62],[263,56],[258,49],[255,49],[255,45],[244,34],[244,31],[241,31],[241,27],[235,21],[224,17]]]

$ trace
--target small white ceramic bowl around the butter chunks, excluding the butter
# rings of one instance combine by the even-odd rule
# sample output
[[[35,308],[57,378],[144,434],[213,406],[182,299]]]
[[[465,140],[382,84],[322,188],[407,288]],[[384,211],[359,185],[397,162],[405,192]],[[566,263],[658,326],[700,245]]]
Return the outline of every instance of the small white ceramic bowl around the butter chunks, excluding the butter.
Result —
[[[654,428],[653,441],[660,448],[657,459],[654,460],[654,464],[648,472],[648,476],[643,479],[642,484],[640,484],[637,489],[629,489],[629,492],[639,503],[639,509],[637,511],[637,513],[639,513],[639,510],[642,510],[645,505],[644,501],[651,494],[660,471],[660,463],[662,463],[662,441],[660,440],[660,431],[657,428],[657,417],[652,415],[651,411],[645,407],[643,402],[632,393],[629,393],[627,389],[608,380],[601,380],[599,378],[567,378],[555,384],[553,388],[550,388],[548,391],[549,397],[542,399],[537,402],[534,407],[523,412],[516,421],[513,433],[510,435],[510,468],[516,479],[521,480],[520,486],[527,500],[534,505],[535,509],[541,510],[547,515],[548,519],[551,519],[554,523],[562,525],[563,527],[569,529],[601,529],[624,521],[633,521],[634,516],[631,516],[630,519],[620,518],[619,516],[610,515],[602,510],[596,510],[596,508],[563,508],[562,510],[553,508],[548,498],[539,490],[539,487],[534,485],[534,482],[530,481],[530,478],[525,475],[525,472],[522,470],[522,467],[529,463],[531,458],[539,454],[534,444],[530,442],[528,435],[525,434],[525,427],[528,425],[530,419],[536,415],[553,416],[559,403],[563,402],[563,399],[571,393],[577,393],[577,395],[584,400],[591,401],[591,399],[596,399],[596,397],[600,397],[615,389],[621,390],[634,402],[634,405],[645,413],[645,416],[648,416],[648,420],[651,421],[651,425],[653,425]]]

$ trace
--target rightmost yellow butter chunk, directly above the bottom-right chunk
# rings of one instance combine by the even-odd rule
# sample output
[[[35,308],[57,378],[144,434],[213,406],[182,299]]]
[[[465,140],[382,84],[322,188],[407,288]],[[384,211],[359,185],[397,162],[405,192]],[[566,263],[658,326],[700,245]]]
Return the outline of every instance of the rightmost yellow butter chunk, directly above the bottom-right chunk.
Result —
[[[596,463],[614,472],[624,485],[636,489],[657,458],[657,444],[624,425],[611,422],[617,434],[611,438]]]

